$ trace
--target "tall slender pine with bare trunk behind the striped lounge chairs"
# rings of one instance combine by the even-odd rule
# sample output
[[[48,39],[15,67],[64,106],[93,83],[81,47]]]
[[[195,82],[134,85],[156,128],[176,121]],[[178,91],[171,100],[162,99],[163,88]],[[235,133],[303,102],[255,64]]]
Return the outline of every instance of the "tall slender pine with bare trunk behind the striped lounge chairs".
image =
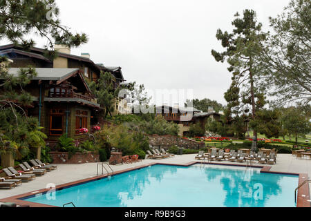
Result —
[[[261,64],[258,63],[258,55],[262,52],[262,42],[266,34],[261,31],[261,23],[257,22],[256,13],[253,10],[244,10],[241,18],[238,13],[235,15],[232,25],[232,33],[218,30],[216,38],[221,41],[224,52],[211,51],[216,61],[229,64],[229,72],[233,74],[232,85],[225,99],[228,102],[229,112],[238,116],[249,113],[251,119],[256,119],[256,110],[263,107],[264,95],[256,81],[261,73]],[[254,128],[254,147],[256,147],[257,133]]]

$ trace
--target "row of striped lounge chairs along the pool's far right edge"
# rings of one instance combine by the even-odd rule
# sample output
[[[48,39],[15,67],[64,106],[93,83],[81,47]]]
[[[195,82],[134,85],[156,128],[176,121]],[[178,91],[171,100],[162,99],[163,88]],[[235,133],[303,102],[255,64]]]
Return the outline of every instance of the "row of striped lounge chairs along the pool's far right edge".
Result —
[[[217,153],[216,150],[212,150],[211,153],[205,155],[204,151],[199,151],[198,155],[195,157],[196,160],[229,160],[231,162],[245,162],[247,160],[258,160],[261,164],[276,164],[276,152],[271,152],[270,155],[266,155],[262,151],[259,151],[258,153],[255,153],[254,151],[250,151],[249,154],[243,153],[243,151],[238,150],[236,153],[235,150],[231,150],[229,155],[225,157],[224,150],[219,150]]]

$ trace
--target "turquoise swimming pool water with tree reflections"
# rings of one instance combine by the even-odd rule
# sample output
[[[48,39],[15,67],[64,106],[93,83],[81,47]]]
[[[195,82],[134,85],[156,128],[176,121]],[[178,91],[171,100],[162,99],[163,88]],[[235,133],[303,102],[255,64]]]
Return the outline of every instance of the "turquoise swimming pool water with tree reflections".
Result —
[[[29,202],[77,207],[291,207],[298,176],[238,166],[155,165],[115,175]]]

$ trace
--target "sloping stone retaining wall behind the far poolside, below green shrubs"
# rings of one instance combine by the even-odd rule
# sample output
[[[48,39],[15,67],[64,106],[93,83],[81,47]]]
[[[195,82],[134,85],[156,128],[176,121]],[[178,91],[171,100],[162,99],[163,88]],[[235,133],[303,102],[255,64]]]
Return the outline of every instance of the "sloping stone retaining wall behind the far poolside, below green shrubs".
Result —
[[[205,148],[205,142],[196,142],[194,140],[187,140],[173,135],[149,135],[149,145],[152,147],[169,148],[171,146],[178,146],[189,149]]]

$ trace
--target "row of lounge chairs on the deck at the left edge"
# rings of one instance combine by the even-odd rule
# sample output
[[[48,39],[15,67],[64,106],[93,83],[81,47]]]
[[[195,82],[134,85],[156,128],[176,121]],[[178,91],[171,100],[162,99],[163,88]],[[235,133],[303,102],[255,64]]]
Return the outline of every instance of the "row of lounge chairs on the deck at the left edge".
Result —
[[[44,164],[41,160],[30,160],[30,166],[28,162],[19,164],[19,168],[22,171],[17,171],[12,166],[4,168],[3,172],[6,173],[6,177],[0,177],[0,188],[12,189],[12,187],[21,185],[21,182],[30,182],[35,180],[36,176],[46,174],[48,171],[57,169],[57,166]]]

